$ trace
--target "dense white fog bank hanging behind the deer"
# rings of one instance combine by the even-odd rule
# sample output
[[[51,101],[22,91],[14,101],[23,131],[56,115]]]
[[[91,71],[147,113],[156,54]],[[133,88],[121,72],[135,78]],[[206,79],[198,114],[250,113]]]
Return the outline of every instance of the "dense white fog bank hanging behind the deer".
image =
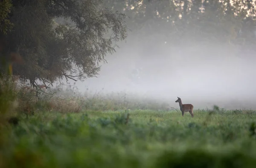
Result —
[[[170,45],[166,41],[138,45],[128,37],[114,54],[106,57],[108,63],[97,78],[76,82],[79,91],[133,92],[168,101],[173,107],[177,97],[195,108],[256,108],[255,57],[239,53],[234,48],[211,43]],[[154,47],[153,47],[154,46]],[[237,54],[238,53],[238,54]],[[131,73],[141,68],[139,80]]]

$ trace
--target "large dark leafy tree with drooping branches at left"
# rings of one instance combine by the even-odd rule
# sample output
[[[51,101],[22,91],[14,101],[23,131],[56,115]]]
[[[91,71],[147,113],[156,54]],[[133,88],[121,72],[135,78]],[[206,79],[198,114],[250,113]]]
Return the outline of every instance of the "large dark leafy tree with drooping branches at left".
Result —
[[[13,74],[52,84],[66,78],[96,76],[99,62],[115,51],[115,42],[127,37],[125,15],[102,7],[102,0],[12,0],[13,31],[0,34],[0,56],[18,53],[23,64]],[[58,20],[64,23],[58,23]],[[57,22],[56,22],[57,20]],[[0,67],[3,71],[3,66]]]

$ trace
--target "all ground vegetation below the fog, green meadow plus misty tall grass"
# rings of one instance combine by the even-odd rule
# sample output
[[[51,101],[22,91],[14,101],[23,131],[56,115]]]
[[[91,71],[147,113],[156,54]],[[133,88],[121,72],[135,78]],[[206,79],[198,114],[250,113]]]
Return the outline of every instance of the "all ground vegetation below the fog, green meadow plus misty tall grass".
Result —
[[[256,165],[256,111],[215,106],[191,118],[125,93],[15,88],[1,94],[14,93],[9,100],[16,103],[6,113],[1,108],[1,168]],[[18,117],[17,125],[6,122],[10,116]]]

